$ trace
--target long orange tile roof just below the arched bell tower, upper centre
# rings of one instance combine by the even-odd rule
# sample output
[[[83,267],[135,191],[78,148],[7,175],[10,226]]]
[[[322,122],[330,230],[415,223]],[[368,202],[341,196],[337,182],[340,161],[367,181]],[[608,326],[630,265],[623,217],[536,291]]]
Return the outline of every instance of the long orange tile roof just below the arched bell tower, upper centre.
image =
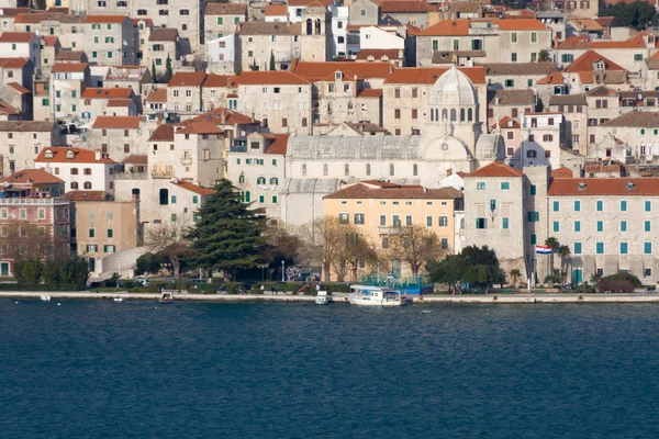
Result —
[[[389,63],[353,63],[353,61],[293,61],[291,71],[312,82],[332,80],[336,71],[344,71],[359,79],[387,78],[391,72]]]

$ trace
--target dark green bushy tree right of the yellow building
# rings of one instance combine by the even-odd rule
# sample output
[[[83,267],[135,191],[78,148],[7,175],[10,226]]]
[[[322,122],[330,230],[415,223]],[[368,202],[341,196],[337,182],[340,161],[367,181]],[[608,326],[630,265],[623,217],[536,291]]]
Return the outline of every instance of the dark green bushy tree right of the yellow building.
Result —
[[[496,252],[488,246],[468,246],[459,255],[449,255],[442,261],[431,261],[427,271],[433,282],[446,283],[461,292],[461,284],[489,289],[502,283],[505,275],[499,266]]]

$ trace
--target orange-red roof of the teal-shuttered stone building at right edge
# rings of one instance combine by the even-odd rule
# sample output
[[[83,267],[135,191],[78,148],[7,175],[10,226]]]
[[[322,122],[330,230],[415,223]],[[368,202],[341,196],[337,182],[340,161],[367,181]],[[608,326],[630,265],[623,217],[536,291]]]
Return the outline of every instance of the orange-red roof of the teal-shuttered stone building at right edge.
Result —
[[[659,196],[659,178],[554,179],[547,194],[549,196]]]

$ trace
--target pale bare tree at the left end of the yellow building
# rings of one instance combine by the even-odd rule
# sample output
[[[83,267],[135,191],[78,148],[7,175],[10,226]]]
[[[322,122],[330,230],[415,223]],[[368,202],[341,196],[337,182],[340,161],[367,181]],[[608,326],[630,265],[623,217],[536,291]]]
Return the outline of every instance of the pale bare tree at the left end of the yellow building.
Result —
[[[302,238],[302,257],[308,264],[320,264],[323,270],[325,282],[330,282],[332,275],[332,261],[340,248],[340,236],[343,225],[334,216],[325,216],[312,221],[300,228]]]

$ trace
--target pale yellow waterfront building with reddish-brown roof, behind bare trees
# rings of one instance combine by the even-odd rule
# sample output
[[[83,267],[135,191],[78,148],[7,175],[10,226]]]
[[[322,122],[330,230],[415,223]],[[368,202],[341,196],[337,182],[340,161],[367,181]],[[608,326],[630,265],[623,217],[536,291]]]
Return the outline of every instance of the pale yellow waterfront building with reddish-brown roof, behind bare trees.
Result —
[[[380,254],[389,249],[393,235],[418,225],[437,235],[443,250],[454,252],[463,229],[462,193],[454,188],[427,189],[370,180],[345,185],[323,202],[326,216],[357,227]],[[409,267],[395,259],[391,269],[399,275],[409,272]]]

